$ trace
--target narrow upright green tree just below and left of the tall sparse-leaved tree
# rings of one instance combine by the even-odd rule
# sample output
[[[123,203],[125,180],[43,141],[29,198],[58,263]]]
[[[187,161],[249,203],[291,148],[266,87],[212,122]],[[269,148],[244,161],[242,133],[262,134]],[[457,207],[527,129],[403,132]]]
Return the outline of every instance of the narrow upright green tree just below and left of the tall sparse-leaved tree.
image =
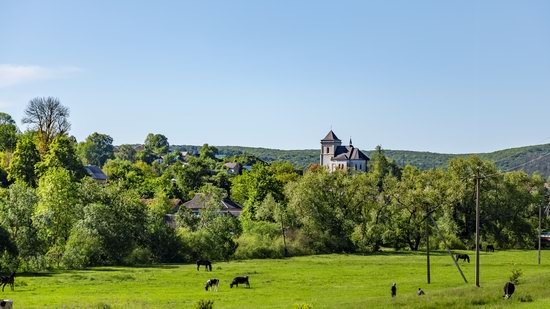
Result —
[[[15,152],[8,168],[8,178],[22,181],[35,187],[37,176],[35,165],[40,162],[40,153],[30,134],[23,135],[17,142]]]

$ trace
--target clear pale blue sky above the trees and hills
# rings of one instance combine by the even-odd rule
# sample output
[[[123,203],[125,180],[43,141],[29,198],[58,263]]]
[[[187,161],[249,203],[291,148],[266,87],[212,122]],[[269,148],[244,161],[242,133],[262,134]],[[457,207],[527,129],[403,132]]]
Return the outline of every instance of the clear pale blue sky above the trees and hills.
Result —
[[[0,110],[115,144],[484,152],[550,142],[550,1],[4,1]]]

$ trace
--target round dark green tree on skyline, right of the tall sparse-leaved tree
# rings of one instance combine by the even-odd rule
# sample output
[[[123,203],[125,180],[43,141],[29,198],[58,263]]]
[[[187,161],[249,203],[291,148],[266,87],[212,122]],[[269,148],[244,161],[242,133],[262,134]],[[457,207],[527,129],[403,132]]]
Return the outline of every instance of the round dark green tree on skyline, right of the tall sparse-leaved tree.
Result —
[[[78,148],[84,161],[90,165],[101,167],[113,158],[113,138],[107,134],[94,132]]]

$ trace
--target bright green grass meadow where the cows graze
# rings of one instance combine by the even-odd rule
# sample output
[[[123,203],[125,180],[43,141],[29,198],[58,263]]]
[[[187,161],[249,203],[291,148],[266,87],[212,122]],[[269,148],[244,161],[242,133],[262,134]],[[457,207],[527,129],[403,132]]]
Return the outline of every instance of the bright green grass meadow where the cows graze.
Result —
[[[483,253],[481,288],[474,285],[473,259],[461,263],[465,284],[451,258],[435,253],[428,285],[421,253],[388,253],[215,263],[211,273],[163,265],[21,274],[15,292],[6,287],[2,298],[13,299],[15,308],[192,308],[199,299],[214,300],[214,308],[550,308],[549,253],[543,252],[540,267],[536,251]],[[506,301],[502,287],[514,267],[523,271],[522,283]],[[251,288],[230,289],[237,275],[250,276]],[[211,277],[222,280],[217,293],[204,290]],[[390,297],[392,282],[396,299]],[[416,296],[418,287],[425,297]]]

